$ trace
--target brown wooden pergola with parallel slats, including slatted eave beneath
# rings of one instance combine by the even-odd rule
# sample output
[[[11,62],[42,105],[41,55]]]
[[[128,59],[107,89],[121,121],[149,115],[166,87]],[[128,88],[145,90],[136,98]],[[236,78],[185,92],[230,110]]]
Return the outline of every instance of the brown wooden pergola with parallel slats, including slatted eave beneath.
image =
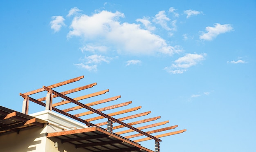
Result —
[[[118,107],[124,107],[126,105],[129,105],[130,103],[132,103],[131,101],[125,102],[125,103],[119,103],[119,104],[116,104],[116,105],[110,105],[108,107],[102,107],[100,109],[94,109],[94,108],[91,107],[93,105],[99,105],[101,103],[107,103],[107,102],[110,102],[110,101],[115,101],[118,98],[120,98],[121,96],[114,96],[114,97],[111,97],[111,98],[106,98],[106,99],[103,99],[103,100],[94,101],[92,103],[79,102],[79,101],[87,99],[87,98],[91,98],[91,97],[94,97],[94,96],[99,96],[99,95],[105,94],[106,92],[109,91],[109,89],[99,91],[99,92],[94,92],[92,94],[86,94],[86,95],[79,96],[79,97],[76,97],[76,98],[70,98],[70,97],[67,96],[67,94],[71,94],[71,93],[74,93],[74,92],[78,92],[78,91],[81,91],[81,90],[84,90],[84,89],[91,88],[91,87],[97,85],[97,83],[92,83],[92,84],[85,85],[85,86],[82,86],[82,87],[77,87],[75,89],[70,89],[70,90],[67,90],[67,91],[64,91],[64,92],[57,92],[57,91],[54,90],[54,88],[56,88],[56,87],[60,87],[60,86],[63,86],[63,85],[67,85],[69,83],[79,81],[82,78],[84,78],[84,76],[79,76],[77,78],[66,80],[66,81],[63,81],[61,83],[56,83],[54,85],[49,85],[47,87],[43,86],[40,89],[36,89],[36,90],[30,91],[30,92],[27,92],[27,93],[23,93],[23,94],[20,93],[20,96],[22,96],[24,98],[24,101],[23,101],[23,104],[22,104],[22,113],[28,114],[29,101],[32,101],[34,103],[37,103],[39,105],[44,106],[45,110],[53,110],[53,111],[56,111],[56,112],[59,112],[59,113],[65,115],[65,116],[68,116],[70,118],[73,118],[76,121],[80,121],[82,123],[85,123],[89,128],[94,128],[94,129],[92,129],[94,132],[97,132],[96,135],[95,134],[92,135],[92,136],[94,136],[94,139],[95,138],[97,139],[97,141],[92,140],[90,137],[86,137],[86,136],[90,136],[90,135],[85,133],[85,132],[88,133],[88,130],[89,130],[88,128],[73,130],[73,132],[72,131],[63,131],[63,132],[48,133],[47,137],[57,137],[57,138],[61,139],[62,141],[65,141],[65,142],[68,141],[68,142],[76,145],[76,148],[85,148],[85,149],[87,149],[89,151],[93,151],[93,152],[94,151],[95,152],[97,152],[97,151],[103,151],[103,152],[111,151],[112,152],[114,150],[116,150],[118,152],[121,152],[122,151],[121,149],[125,149],[124,151],[127,151],[127,152],[137,151],[137,150],[139,150],[140,152],[141,152],[141,150],[144,150],[145,152],[152,152],[151,150],[148,150],[146,148],[141,148],[141,146],[138,144],[138,142],[147,141],[147,140],[150,140],[150,139],[155,140],[155,152],[159,152],[159,142],[161,141],[161,139],[159,139],[160,137],[170,136],[170,135],[173,135],[173,134],[180,134],[180,133],[186,131],[186,129],[184,129],[184,130],[178,130],[178,131],[175,131],[175,132],[157,134],[155,136],[151,135],[153,133],[155,134],[155,133],[163,132],[163,131],[166,131],[166,130],[172,130],[172,129],[178,127],[178,125],[168,126],[168,127],[164,127],[164,128],[157,128],[155,130],[151,130],[151,131],[147,131],[147,132],[142,131],[142,130],[150,128],[150,127],[157,127],[157,126],[160,126],[160,125],[165,125],[169,121],[162,121],[162,122],[159,122],[159,123],[152,123],[150,125],[145,125],[145,126],[141,126],[141,127],[133,127],[133,125],[146,123],[146,122],[150,122],[150,121],[155,121],[155,120],[159,119],[160,116],[153,117],[153,118],[146,118],[146,119],[139,120],[139,121],[133,121],[133,122],[130,122],[130,123],[124,123],[123,122],[125,120],[132,120],[133,118],[146,116],[146,115],[150,114],[151,111],[142,112],[142,113],[138,113],[138,114],[133,114],[133,115],[126,116],[126,117],[123,117],[123,118],[114,118],[113,117],[113,116],[117,116],[119,114],[134,112],[134,111],[140,109],[141,106],[133,107],[133,108],[130,108],[130,109],[121,110],[121,111],[117,111],[117,112],[113,112],[113,113],[110,113],[110,114],[103,113],[103,111],[105,111],[105,110],[117,109]],[[34,99],[34,98],[30,97],[30,95],[32,95],[32,94],[37,94],[37,93],[43,92],[43,91],[47,91],[47,94],[46,94],[45,97],[38,98],[38,99]],[[62,98],[61,102],[54,102],[54,98],[56,98],[56,97]],[[74,104],[76,104],[76,106],[74,106],[74,107],[71,106],[71,107],[63,109],[63,110],[60,110],[59,108],[57,108],[58,106],[69,104],[69,103],[74,103]],[[72,104],[72,105],[74,105],[74,104]],[[84,109],[84,112],[81,112],[79,114],[70,114],[69,113],[69,112],[72,112],[74,110],[81,110],[81,109]],[[92,117],[92,118],[89,117],[89,118],[86,118],[86,119],[81,118],[82,116],[88,116],[89,114],[98,114],[99,116]],[[107,119],[106,119],[106,121],[103,121],[103,122],[100,122],[100,123],[97,123],[97,124],[91,123],[91,121],[100,120],[102,118],[107,118]],[[106,128],[101,127],[101,126],[104,126],[104,125],[106,125]],[[122,128],[122,127],[126,127],[127,130],[123,130],[123,131],[120,131],[120,132],[114,132],[113,131],[113,130],[116,130],[116,129],[119,129],[119,128]],[[128,136],[121,136],[121,134],[126,134],[126,133],[129,133],[129,132],[136,132],[136,133],[132,134],[132,135],[128,135]],[[77,135],[77,134],[81,134],[81,133],[83,133],[84,136]],[[98,133],[100,133],[100,134],[98,134]],[[70,137],[71,134],[73,135],[72,137]],[[104,137],[101,137],[101,136],[104,136]],[[115,139],[110,139],[111,136],[112,137],[115,136]],[[136,139],[136,140],[131,140],[132,138],[135,138],[135,137],[138,138],[140,136],[144,136],[144,137],[142,137],[140,139]],[[101,138],[99,139],[99,137],[101,137]],[[108,139],[104,139],[104,138],[108,138]],[[125,142],[122,139],[124,139]],[[119,145],[120,144],[122,145],[122,143],[129,143],[128,145],[130,145],[130,146],[127,147],[127,145],[126,145],[123,148],[121,148],[122,146],[121,147],[120,146],[115,146],[115,144],[117,144],[115,142],[119,143]],[[106,143],[106,145],[104,145],[104,143]],[[89,148],[89,146],[85,146],[85,145],[94,145],[94,146],[92,146],[93,148],[92,147]],[[113,146],[114,148],[111,147],[110,145]],[[134,150],[132,150],[132,149],[134,149]]]

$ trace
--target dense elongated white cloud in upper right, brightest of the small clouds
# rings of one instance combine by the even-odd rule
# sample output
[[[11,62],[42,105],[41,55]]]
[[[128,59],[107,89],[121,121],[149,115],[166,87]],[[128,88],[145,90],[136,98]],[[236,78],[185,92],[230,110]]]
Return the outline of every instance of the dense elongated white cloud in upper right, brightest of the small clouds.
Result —
[[[207,33],[203,33],[200,35],[201,40],[212,40],[216,38],[219,34],[223,34],[233,30],[233,27],[229,24],[221,25],[219,23],[215,23],[214,27],[206,27],[205,30]]]

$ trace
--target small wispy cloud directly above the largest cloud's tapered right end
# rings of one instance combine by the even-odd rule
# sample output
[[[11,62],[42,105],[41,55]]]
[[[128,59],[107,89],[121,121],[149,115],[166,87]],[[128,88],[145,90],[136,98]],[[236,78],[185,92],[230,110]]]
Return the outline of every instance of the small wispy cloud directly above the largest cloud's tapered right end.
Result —
[[[171,28],[168,27],[168,25],[167,25],[167,22],[170,21],[170,20],[171,19],[166,16],[165,11],[159,11],[155,15],[155,18],[153,19],[153,22],[161,25],[167,31],[171,31]]]

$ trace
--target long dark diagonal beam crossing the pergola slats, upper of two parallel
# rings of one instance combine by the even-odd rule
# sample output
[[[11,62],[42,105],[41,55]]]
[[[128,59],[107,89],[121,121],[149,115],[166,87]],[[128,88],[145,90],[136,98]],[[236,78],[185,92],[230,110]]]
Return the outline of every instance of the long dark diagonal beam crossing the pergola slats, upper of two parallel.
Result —
[[[48,87],[45,87],[45,86],[43,86],[43,88],[45,88],[47,91],[51,90],[51,89],[49,89]],[[83,103],[80,103],[80,102],[78,102],[78,101],[76,101],[76,100],[74,100],[74,99],[72,99],[72,98],[70,98],[70,97],[68,97],[68,96],[65,96],[65,95],[63,95],[63,94],[60,94],[59,92],[56,92],[56,91],[54,91],[54,90],[52,90],[52,92],[53,92],[54,94],[60,96],[61,98],[64,98],[64,99],[66,99],[66,100],[68,100],[68,101],[70,101],[70,102],[72,102],[72,103],[75,103],[76,105],[80,105],[80,106],[84,107],[84,108],[87,109],[87,110],[93,111],[94,113],[97,113],[97,114],[99,114],[99,115],[101,115],[101,116],[103,116],[103,117],[105,117],[105,118],[108,118],[108,119],[110,119],[110,120],[112,120],[112,121],[115,121],[115,122],[121,124],[121,125],[124,125],[124,126],[130,128],[131,130],[134,130],[134,131],[137,131],[137,132],[139,132],[139,133],[141,133],[141,134],[144,134],[145,136],[148,136],[148,137],[150,137],[150,138],[152,138],[152,139],[155,139],[156,141],[161,141],[160,139],[157,139],[157,138],[155,138],[154,136],[151,136],[150,134],[147,134],[146,132],[143,132],[143,131],[141,131],[141,130],[135,128],[135,127],[132,127],[132,126],[130,126],[130,125],[128,125],[128,124],[126,124],[126,123],[124,123],[124,122],[122,122],[122,121],[119,121],[119,120],[117,120],[116,118],[113,118],[113,117],[111,117],[111,116],[109,116],[109,115],[107,115],[107,114],[104,114],[104,113],[102,113],[102,112],[99,112],[98,110],[95,110],[95,109],[93,109],[93,108],[91,108],[91,107],[88,107],[87,105],[84,105]],[[140,106],[140,108],[141,108],[141,106]],[[76,118],[77,118],[77,117],[76,117]]]

